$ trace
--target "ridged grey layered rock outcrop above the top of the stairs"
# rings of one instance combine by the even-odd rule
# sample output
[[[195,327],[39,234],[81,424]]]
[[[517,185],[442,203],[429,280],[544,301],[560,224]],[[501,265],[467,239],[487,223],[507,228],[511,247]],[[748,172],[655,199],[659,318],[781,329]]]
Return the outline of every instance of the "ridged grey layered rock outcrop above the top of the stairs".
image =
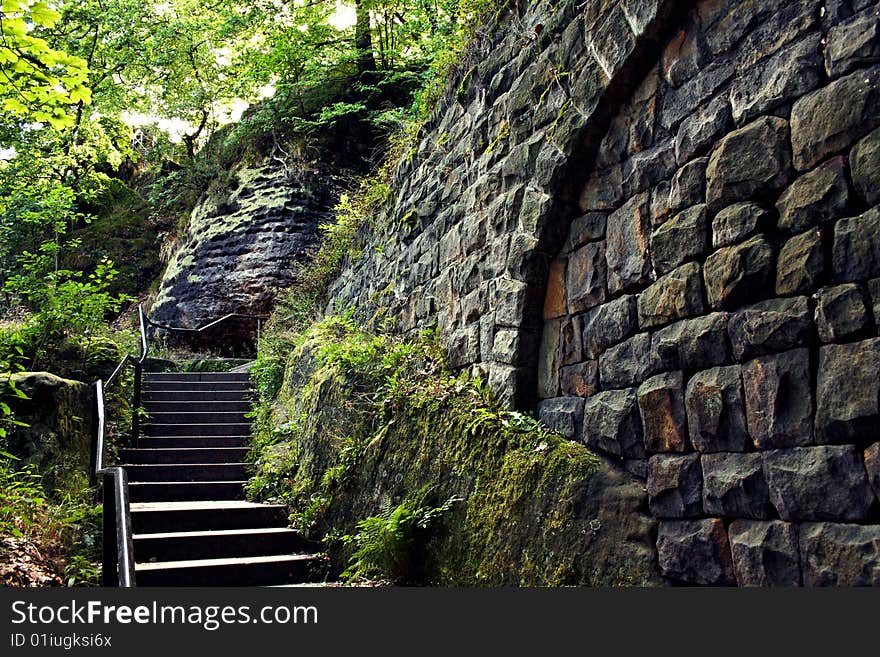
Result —
[[[316,172],[293,180],[278,166],[243,166],[231,177],[193,210],[150,309],[153,320],[192,328],[231,312],[267,313],[335,203],[333,179]]]

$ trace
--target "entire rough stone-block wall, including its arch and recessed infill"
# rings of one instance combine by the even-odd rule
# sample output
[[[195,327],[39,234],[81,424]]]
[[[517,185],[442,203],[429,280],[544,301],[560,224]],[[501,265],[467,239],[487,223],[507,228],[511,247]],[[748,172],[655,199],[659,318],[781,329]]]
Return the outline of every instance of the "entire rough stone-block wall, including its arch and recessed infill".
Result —
[[[331,309],[644,480],[668,581],[880,584],[878,3],[514,2],[471,62]]]

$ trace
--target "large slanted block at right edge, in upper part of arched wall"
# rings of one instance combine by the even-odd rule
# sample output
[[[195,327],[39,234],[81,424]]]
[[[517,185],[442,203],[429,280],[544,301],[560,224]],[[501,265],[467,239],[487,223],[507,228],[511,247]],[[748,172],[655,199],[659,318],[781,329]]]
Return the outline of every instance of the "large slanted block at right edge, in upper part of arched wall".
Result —
[[[880,67],[856,71],[798,100],[791,110],[794,165],[806,171],[880,124]]]

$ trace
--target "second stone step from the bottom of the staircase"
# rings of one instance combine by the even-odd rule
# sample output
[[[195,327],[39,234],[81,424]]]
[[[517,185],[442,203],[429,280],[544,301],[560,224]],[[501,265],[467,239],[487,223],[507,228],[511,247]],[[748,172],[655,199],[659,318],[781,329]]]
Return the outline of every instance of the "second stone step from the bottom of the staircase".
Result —
[[[142,563],[304,553],[313,552],[314,547],[286,527],[134,535],[134,553]]]

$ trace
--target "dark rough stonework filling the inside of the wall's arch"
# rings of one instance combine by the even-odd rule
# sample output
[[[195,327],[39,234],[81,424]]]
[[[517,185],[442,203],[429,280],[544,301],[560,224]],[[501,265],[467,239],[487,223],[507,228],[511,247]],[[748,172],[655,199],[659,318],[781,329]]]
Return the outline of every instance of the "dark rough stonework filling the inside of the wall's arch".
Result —
[[[670,580],[880,584],[878,3],[662,46],[549,270],[540,414],[645,479]]]

